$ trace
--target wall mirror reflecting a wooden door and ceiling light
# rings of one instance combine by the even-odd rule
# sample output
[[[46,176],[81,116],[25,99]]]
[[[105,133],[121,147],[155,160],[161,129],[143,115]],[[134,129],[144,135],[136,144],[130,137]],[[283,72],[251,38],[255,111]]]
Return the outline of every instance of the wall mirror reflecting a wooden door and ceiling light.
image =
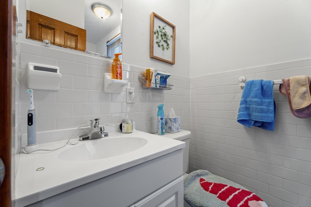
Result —
[[[112,10],[111,16],[107,19],[100,19],[97,17],[91,10],[91,5],[93,3],[103,3],[109,6]],[[78,48],[80,51],[108,57],[107,42],[111,43],[118,38],[120,38],[121,41],[121,0],[27,0],[26,9],[52,19],[57,19],[62,23],[69,24],[69,26],[72,25],[74,27],[85,29],[86,46],[81,47],[80,49]],[[30,21],[29,13],[27,13],[27,38],[29,39],[43,41],[40,40],[40,38],[36,39],[37,37],[33,38],[33,36],[30,35],[32,32],[42,32],[42,34],[45,33],[45,36],[52,38],[51,44],[55,42],[54,45],[77,49],[74,48],[73,45],[80,44],[80,42],[77,44],[77,39],[80,41],[81,38],[74,39],[74,35],[71,34],[61,36],[60,39],[62,39],[63,43],[63,39],[66,39],[64,43],[65,45],[63,43],[59,44],[56,41],[56,37],[53,37],[55,35],[52,31],[54,26],[50,27],[44,25],[45,28],[43,29],[34,29],[34,27],[29,26],[29,22],[34,21]],[[67,25],[65,28],[68,28],[69,26]],[[64,28],[64,26],[61,27]],[[85,41],[82,42],[85,44]]]

